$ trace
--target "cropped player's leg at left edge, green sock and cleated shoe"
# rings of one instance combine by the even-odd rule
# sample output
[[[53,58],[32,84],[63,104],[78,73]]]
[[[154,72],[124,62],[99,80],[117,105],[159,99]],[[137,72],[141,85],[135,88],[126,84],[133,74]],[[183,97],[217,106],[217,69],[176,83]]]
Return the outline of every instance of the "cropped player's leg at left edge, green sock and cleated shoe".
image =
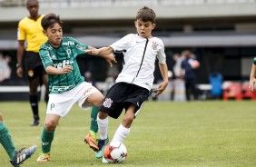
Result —
[[[4,123],[2,113],[0,113],[0,143],[3,145],[5,152],[8,154],[10,162],[15,167],[20,166],[22,162],[25,162],[26,159],[31,157],[37,148],[37,146],[34,145],[26,150],[21,149],[20,151],[16,151],[15,143],[13,142],[12,136]]]

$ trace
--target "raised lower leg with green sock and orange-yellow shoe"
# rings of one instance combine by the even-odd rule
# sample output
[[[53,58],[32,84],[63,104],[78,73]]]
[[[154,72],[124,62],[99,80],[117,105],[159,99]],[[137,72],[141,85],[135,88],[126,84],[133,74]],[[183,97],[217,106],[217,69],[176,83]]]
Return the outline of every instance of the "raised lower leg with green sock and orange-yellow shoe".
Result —
[[[93,105],[92,112],[91,112],[91,126],[89,133],[85,136],[84,142],[88,143],[89,146],[94,150],[98,151],[98,143],[96,133],[98,133],[98,123],[97,123],[97,115],[98,115],[98,108]]]

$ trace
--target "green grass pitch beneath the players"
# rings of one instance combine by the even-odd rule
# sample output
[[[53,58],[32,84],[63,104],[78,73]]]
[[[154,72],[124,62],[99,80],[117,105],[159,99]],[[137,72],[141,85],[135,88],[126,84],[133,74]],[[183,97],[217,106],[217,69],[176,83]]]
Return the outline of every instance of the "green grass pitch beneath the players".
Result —
[[[40,103],[41,123],[31,127],[29,103],[0,103],[5,124],[17,149],[37,144],[38,150],[23,166],[256,166],[256,109],[253,101],[205,101],[191,103],[146,102],[124,141],[127,159],[103,164],[84,144],[90,112],[74,105],[61,119],[54,136],[52,161],[38,164],[45,104]],[[89,110],[90,111],[90,110]],[[113,136],[119,120],[110,119]],[[0,166],[10,166],[0,146]]]

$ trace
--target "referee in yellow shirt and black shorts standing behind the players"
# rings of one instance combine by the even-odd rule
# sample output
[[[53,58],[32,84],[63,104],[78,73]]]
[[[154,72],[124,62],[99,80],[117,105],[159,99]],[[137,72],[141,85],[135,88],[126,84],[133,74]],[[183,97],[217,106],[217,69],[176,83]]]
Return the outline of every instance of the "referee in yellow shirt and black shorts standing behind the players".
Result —
[[[45,101],[47,102],[48,100],[47,74],[38,54],[40,46],[47,41],[47,37],[43,34],[41,20],[44,15],[38,14],[38,1],[27,0],[26,8],[29,12],[29,16],[22,19],[18,25],[16,74],[18,77],[23,77],[24,74],[27,75],[29,83],[29,102],[34,116],[34,121],[31,125],[37,126],[40,123],[37,88],[42,83],[44,83],[46,90]],[[23,71],[24,64],[25,73]]]

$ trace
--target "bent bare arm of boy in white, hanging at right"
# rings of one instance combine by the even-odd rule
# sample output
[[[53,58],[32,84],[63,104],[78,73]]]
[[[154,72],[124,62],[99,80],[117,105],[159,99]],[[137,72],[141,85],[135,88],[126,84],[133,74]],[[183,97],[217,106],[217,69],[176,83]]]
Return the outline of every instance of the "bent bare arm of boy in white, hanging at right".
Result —
[[[161,94],[168,85],[168,68],[167,64],[159,64],[159,69],[162,74],[162,83],[159,84],[158,88],[153,90],[154,95]]]

